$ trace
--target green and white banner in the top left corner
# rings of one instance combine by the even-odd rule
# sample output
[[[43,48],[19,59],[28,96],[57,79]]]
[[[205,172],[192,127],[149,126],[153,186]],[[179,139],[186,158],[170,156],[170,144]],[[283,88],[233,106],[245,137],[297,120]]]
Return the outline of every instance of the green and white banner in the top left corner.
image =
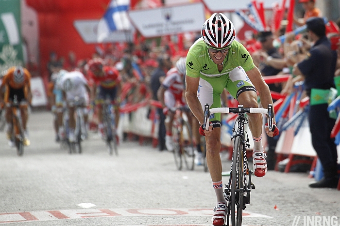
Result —
[[[0,73],[23,65],[20,0],[0,0]]]

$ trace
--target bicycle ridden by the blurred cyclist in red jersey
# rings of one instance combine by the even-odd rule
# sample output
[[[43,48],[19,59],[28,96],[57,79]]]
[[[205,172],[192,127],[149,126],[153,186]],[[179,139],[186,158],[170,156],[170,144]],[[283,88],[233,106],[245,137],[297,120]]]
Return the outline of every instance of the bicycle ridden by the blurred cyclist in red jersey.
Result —
[[[118,136],[115,118],[115,101],[105,100],[102,104],[102,121],[105,136],[103,139],[109,149],[109,154],[115,152],[118,156]]]

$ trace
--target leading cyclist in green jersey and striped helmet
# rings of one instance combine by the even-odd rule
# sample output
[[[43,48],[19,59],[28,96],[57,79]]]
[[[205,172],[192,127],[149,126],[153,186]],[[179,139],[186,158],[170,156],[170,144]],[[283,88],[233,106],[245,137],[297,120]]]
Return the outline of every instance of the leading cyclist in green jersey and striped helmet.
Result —
[[[217,197],[212,218],[214,226],[225,224],[226,200],[223,196],[221,150],[221,114],[210,116],[209,130],[203,130],[204,105],[221,107],[221,93],[226,88],[244,107],[258,107],[258,91],[262,106],[272,104],[268,85],[254,65],[246,48],[235,41],[233,23],[223,14],[215,13],[204,22],[202,38],[198,39],[187,54],[186,98],[192,113],[200,122],[200,134],[205,136],[206,159]],[[249,114],[249,128],[254,140],[253,163],[255,176],[267,172],[266,156],[262,146],[262,115]],[[275,123],[275,120],[273,121]],[[265,127],[268,136],[279,131]]]

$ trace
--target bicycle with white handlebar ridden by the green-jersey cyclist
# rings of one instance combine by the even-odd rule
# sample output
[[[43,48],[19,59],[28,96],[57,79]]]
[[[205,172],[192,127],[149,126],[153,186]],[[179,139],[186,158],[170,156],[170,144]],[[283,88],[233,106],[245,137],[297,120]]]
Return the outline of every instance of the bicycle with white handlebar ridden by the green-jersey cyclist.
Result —
[[[250,148],[248,134],[244,130],[244,124],[248,123],[245,117],[247,113],[262,113],[269,117],[268,128],[272,130],[273,108],[268,105],[266,108],[245,108],[238,105],[235,108],[217,107],[209,109],[209,104],[204,106],[204,126],[209,126],[209,117],[213,113],[234,113],[238,114],[238,118],[233,127],[232,139],[234,139],[233,157],[231,160],[231,170],[228,184],[225,184],[224,196],[228,202],[227,222],[229,226],[229,217],[231,216],[232,226],[241,226],[242,211],[246,208],[246,204],[250,203],[251,189],[255,189],[252,183],[253,171],[249,169],[246,151]],[[237,125],[236,125],[237,124]],[[237,127],[237,129],[235,129]]]

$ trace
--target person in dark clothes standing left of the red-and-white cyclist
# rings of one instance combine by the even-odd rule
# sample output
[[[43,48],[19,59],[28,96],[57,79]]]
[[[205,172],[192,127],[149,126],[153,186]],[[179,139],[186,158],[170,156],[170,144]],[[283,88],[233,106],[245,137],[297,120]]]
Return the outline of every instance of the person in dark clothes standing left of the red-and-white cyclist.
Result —
[[[171,63],[170,63],[170,58],[158,58],[158,67],[153,71],[151,74],[151,79],[150,79],[150,88],[153,93],[153,100],[157,100],[157,91],[159,87],[161,86],[161,82],[166,76],[166,73],[170,70],[171,68]],[[166,150],[165,147],[165,115],[163,114],[163,109],[162,108],[157,108],[157,113],[159,116],[159,129],[158,129],[158,150],[163,151]]]

